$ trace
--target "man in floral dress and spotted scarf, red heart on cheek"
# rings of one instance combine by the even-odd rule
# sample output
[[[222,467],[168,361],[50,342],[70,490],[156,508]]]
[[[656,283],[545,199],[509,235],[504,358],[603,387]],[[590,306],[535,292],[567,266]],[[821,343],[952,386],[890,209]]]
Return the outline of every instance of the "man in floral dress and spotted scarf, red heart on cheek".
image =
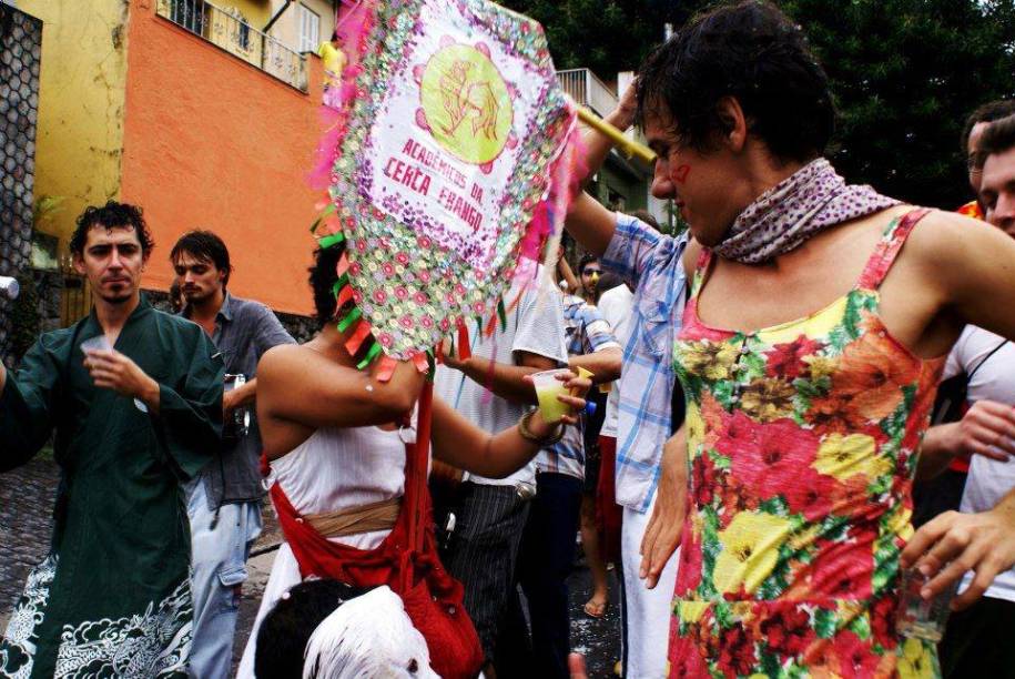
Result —
[[[1015,558],[1015,527],[995,508],[913,536],[913,472],[962,328],[1015,337],[1015,243],[840,176],[828,77],[770,2],[676,33],[643,64],[633,118],[652,193],[694,239],[673,344],[686,455],[663,455],[677,480],[660,493],[678,498],[657,501],[643,545],[648,577],[681,545],[670,673],[938,675],[934,643],[895,629],[903,568],[932,597]],[[616,223],[582,197],[568,227],[601,251]]]

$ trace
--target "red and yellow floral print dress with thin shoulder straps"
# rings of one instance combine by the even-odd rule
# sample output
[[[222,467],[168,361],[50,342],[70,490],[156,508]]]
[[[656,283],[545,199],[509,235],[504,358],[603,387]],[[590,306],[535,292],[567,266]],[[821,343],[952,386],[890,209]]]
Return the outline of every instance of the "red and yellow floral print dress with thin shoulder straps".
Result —
[[[937,677],[933,643],[895,632],[916,453],[943,359],[896,342],[879,287],[913,226],[894,220],[857,284],[752,333],[698,316],[674,363],[690,470],[672,677]]]

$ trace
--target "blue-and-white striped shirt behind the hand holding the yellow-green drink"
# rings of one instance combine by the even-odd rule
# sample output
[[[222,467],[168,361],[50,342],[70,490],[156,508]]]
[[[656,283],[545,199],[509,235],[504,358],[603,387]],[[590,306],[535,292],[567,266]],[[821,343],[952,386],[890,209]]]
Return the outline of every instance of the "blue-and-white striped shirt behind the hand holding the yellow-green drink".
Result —
[[[613,331],[599,310],[575,295],[564,300],[564,325],[567,335],[569,356],[583,356],[607,348],[620,348],[613,337]],[[541,473],[567,474],[585,478],[585,428],[582,414],[578,426],[567,427],[561,438],[552,448],[540,450],[536,457],[536,468]]]

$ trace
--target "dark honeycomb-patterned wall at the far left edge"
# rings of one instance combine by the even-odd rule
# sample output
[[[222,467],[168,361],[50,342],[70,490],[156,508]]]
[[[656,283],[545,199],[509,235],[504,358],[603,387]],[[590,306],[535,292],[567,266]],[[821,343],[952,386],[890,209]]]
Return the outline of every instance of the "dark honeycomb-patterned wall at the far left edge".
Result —
[[[31,276],[42,22],[0,4],[0,275]],[[0,298],[0,358],[12,364],[14,304]]]

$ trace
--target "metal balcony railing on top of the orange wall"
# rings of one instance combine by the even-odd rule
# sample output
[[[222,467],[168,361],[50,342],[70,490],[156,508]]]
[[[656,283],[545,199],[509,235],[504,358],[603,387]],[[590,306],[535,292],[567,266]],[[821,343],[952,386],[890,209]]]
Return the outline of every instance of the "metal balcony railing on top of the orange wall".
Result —
[[[158,0],[155,13],[302,92],[306,57],[251,27],[238,11],[205,0]]]

